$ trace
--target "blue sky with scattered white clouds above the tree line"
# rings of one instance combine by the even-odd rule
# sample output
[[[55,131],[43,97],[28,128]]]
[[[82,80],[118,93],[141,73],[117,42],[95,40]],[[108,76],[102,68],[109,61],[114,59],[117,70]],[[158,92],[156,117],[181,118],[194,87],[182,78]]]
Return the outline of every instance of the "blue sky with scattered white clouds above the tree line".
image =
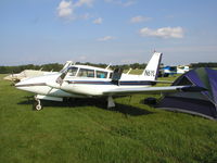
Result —
[[[217,0],[0,0],[0,65],[217,62]]]

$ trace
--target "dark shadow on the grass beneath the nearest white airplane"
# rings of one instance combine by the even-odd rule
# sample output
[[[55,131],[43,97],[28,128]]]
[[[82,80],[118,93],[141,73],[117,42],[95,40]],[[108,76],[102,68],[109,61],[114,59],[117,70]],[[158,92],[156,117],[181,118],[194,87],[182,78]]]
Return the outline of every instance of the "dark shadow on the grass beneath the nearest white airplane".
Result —
[[[63,102],[56,102],[56,101],[47,101],[41,100],[43,108],[46,106],[52,106],[52,108],[78,108],[78,106],[97,106],[102,110],[113,111],[113,112],[119,112],[125,115],[131,115],[131,116],[139,116],[139,115],[148,115],[153,114],[154,112],[150,112],[137,106],[128,105],[128,104],[120,104],[115,103],[115,108],[107,109],[106,108],[106,99],[100,98],[100,99],[71,99]],[[30,104],[30,106],[34,103],[34,99],[26,97],[25,100],[18,102],[17,104]]]

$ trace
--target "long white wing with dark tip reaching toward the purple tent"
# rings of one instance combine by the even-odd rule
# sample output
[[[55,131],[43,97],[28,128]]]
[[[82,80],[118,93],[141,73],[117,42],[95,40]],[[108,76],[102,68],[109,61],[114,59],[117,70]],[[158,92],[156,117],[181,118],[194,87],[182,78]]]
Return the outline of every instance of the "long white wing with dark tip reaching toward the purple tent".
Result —
[[[131,93],[162,93],[162,92],[177,92],[177,91],[204,91],[207,90],[199,86],[169,86],[169,87],[144,87],[144,88],[115,88],[113,90],[104,91],[105,96],[131,95]]]

